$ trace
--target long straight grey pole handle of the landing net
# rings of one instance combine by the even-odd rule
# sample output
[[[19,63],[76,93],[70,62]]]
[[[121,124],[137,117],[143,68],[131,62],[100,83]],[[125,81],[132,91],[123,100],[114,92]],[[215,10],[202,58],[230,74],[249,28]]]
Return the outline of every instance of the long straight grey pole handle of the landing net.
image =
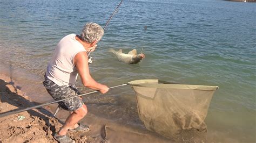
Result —
[[[120,85],[116,85],[116,86],[114,86],[114,87],[110,87],[109,89],[117,88],[117,87],[122,87],[122,86],[124,86],[124,85],[131,85],[131,84],[130,84],[130,83],[120,84]],[[67,100],[67,99],[72,99],[72,98],[79,97],[79,96],[84,96],[84,95],[93,94],[93,93],[96,93],[96,92],[99,92],[99,91],[96,90],[96,91],[92,91],[92,92],[89,92],[89,93],[86,93],[86,94],[76,95],[76,96],[69,97],[69,98],[65,98],[65,99],[59,99],[59,100],[57,100],[57,101],[51,101],[51,102],[39,104],[39,105],[32,106],[32,107],[25,108],[25,109],[10,110],[10,111],[7,111],[7,112],[0,113],[0,118],[1,118],[1,117],[5,117],[5,116],[9,116],[9,115],[13,115],[13,114],[16,114],[16,113],[28,111],[28,110],[35,109],[35,108],[40,108],[40,107],[45,106],[45,105],[50,105],[50,104],[53,104],[53,103],[58,103],[58,102],[61,102],[61,101],[65,101],[65,100]],[[55,111],[55,112],[56,112],[56,111]]]

